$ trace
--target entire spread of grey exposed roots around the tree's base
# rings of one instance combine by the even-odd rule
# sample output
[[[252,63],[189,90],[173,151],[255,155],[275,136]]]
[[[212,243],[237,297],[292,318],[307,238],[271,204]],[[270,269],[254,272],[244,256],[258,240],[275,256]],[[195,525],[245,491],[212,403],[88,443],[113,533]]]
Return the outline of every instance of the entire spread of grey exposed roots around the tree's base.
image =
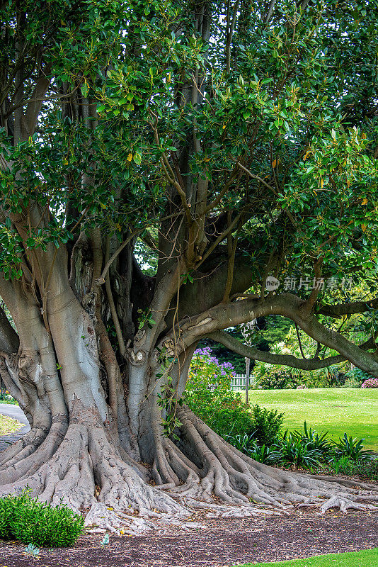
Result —
[[[166,524],[200,527],[185,521],[195,509],[206,510],[207,517],[282,515],[302,506],[317,507],[321,513],[330,508],[377,509],[374,485],[260,464],[189,410],[183,409],[179,419],[183,426],[178,446],[161,439],[152,471],[127,456],[102,423],[81,417],[71,419],[67,428],[64,420],[57,420],[17,466],[26,447],[18,445],[14,454],[6,454],[0,495],[28,487],[42,501],[86,513],[88,527],[130,534]],[[146,482],[148,472],[158,486]]]

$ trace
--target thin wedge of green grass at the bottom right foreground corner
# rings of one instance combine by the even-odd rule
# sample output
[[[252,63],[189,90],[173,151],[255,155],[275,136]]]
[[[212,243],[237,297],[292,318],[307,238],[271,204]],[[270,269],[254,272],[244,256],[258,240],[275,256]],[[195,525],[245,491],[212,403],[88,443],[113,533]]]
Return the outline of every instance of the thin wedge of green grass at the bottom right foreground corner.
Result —
[[[319,555],[276,563],[246,563],[239,567],[274,567],[275,565],[277,567],[375,567],[378,565],[378,547],[348,554]]]

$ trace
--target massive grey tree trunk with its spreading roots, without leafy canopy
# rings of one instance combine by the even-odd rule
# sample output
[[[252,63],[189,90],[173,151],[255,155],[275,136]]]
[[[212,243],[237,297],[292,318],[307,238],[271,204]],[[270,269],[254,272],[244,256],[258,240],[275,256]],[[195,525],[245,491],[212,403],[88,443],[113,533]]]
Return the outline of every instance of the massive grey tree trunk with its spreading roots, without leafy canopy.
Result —
[[[167,335],[161,338],[162,321],[146,325],[135,335],[121,375],[96,305],[88,308],[86,296],[79,301],[60,254],[49,268],[45,318],[28,286],[3,281],[19,347],[12,352],[16,337],[8,329],[1,376],[32,428],[0,454],[0,494],[28,487],[42,501],[88,512],[87,524],[127,526],[130,532],[149,529],[148,518],[183,520],[193,506],[213,508],[216,515],[253,515],[282,513],[293,505],[361,509],[369,507],[364,500],[377,499],[369,485],[359,483],[357,491],[351,481],[259,464],[185,406],[175,408],[182,424],[175,430],[178,440],[165,436],[167,408],[159,405],[159,394],[169,372],[173,391],[181,395],[195,342],[161,371],[156,347],[170,355],[173,343]],[[159,289],[154,302],[164,303]],[[187,325],[188,332],[197,325]]]

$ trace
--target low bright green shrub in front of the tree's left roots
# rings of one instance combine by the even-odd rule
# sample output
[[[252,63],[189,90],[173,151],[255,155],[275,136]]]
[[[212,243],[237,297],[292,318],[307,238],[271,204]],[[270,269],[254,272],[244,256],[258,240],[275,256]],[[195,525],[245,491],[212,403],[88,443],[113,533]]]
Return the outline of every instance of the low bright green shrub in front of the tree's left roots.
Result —
[[[66,505],[53,507],[27,492],[0,498],[0,539],[18,539],[45,547],[74,545],[84,532],[84,518]]]

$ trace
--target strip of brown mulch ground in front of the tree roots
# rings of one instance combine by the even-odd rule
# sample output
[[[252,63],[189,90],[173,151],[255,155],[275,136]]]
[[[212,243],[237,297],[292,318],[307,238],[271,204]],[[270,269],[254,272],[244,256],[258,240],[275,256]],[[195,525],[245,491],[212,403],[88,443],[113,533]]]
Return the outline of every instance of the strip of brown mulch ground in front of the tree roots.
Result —
[[[41,549],[38,559],[25,556],[24,545],[0,542],[0,567],[223,567],[378,547],[378,512],[198,520],[205,529],[110,535],[105,549],[103,534],[86,534],[72,549]]]

